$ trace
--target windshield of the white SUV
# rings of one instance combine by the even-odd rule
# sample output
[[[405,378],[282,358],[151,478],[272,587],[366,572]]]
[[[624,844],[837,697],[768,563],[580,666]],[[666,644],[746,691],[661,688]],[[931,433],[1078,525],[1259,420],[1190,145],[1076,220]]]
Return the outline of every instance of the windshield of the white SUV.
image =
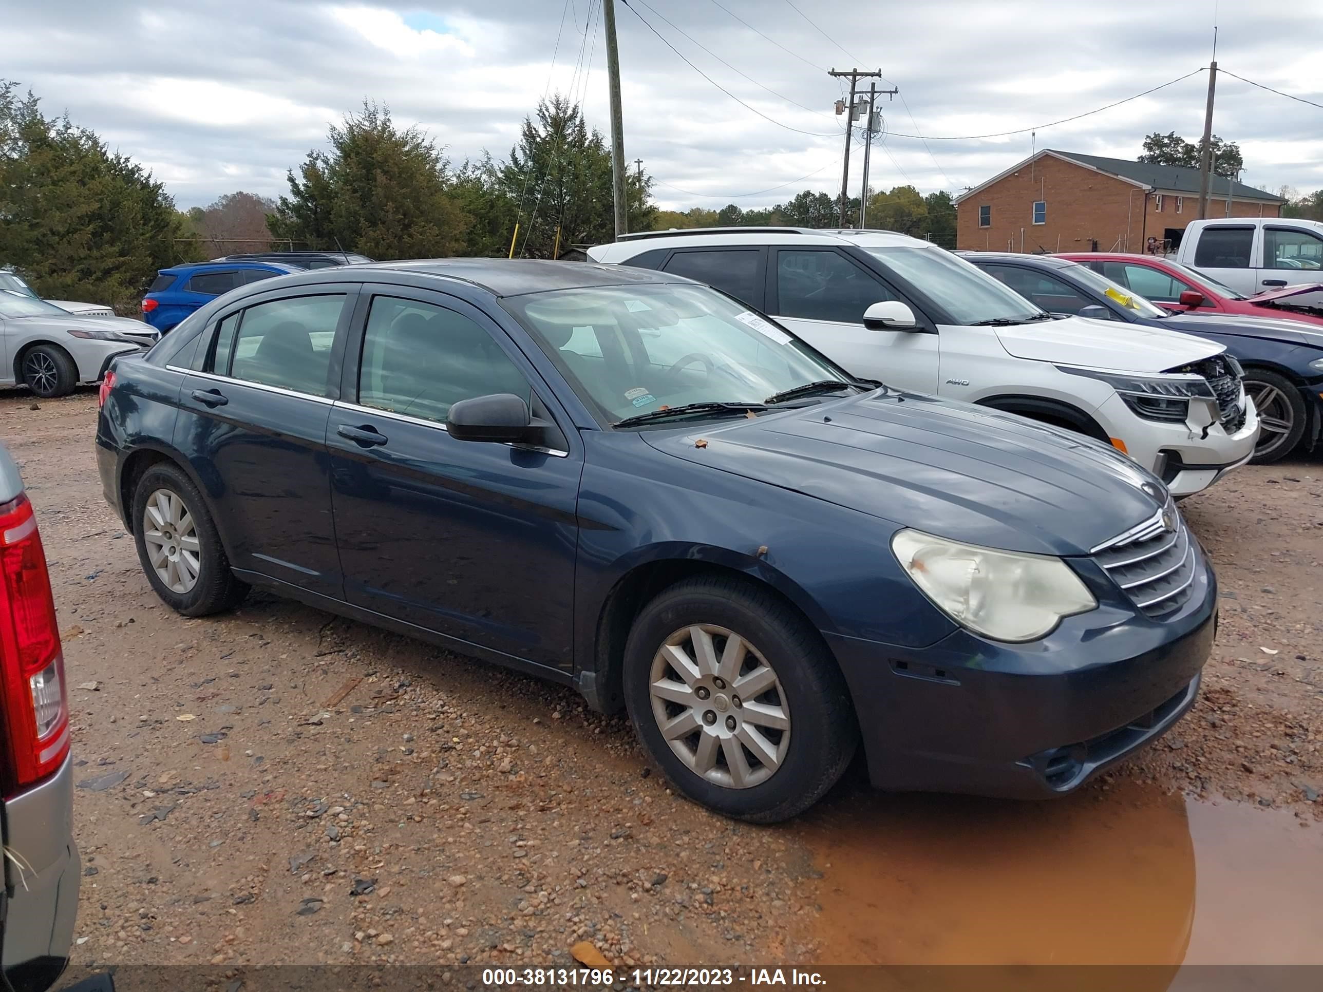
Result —
[[[942,249],[867,247],[886,271],[908,282],[963,327],[1029,321],[1043,310],[991,275]]]

